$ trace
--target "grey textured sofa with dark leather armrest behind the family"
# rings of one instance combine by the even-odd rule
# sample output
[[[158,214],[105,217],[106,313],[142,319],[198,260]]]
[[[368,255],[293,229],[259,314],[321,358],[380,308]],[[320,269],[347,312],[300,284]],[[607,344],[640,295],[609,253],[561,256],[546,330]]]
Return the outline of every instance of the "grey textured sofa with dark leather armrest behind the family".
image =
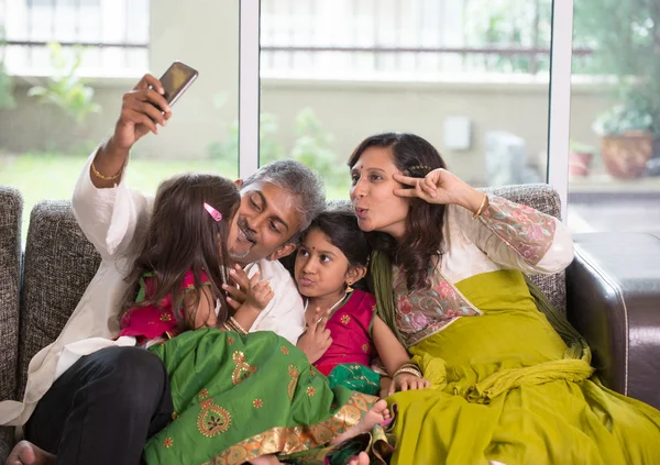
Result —
[[[486,189],[559,217],[547,185]],[[70,202],[43,201],[31,212],[22,253],[22,199],[0,186],[0,399],[21,399],[30,359],[53,342],[100,257]],[[532,279],[586,337],[597,376],[609,388],[660,408],[660,234],[591,233],[574,237],[562,273]],[[0,460],[13,430],[0,428]]]

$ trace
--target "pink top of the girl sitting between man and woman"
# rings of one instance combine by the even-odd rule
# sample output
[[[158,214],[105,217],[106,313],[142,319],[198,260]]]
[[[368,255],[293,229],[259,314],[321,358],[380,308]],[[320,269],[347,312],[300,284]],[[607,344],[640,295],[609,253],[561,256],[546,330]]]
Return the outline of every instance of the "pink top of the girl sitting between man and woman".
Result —
[[[315,363],[319,372],[328,376],[337,365],[371,365],[376,355],[371,336],[375,310],[376,299],[372,294],[353,290],[349,301],[337,309],[326,324],[332,345]]]

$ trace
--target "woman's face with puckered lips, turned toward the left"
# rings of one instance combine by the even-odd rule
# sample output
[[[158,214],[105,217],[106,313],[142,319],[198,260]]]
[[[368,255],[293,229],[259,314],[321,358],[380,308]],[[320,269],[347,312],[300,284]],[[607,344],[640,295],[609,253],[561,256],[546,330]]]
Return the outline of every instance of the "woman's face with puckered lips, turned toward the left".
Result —
[[[394,195],[404,186],[393,175],[402,174],[394,165],[391,148],[370,147],[351,168],[351,202],[362,231],[380,231],[400,240],[406,234],[410,200]]]

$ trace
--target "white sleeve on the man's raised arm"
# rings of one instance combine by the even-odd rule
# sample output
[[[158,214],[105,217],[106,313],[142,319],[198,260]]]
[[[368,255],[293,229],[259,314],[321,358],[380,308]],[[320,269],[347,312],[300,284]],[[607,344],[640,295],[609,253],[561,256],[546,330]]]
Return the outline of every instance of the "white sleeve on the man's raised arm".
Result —
[[[98,148],[89,156],[74,189],[74,215],[103,259],[127,252],[139,224],[148,222],[153,197],[129,189],[125,176],[113,188],[98,189],[89,174]]]

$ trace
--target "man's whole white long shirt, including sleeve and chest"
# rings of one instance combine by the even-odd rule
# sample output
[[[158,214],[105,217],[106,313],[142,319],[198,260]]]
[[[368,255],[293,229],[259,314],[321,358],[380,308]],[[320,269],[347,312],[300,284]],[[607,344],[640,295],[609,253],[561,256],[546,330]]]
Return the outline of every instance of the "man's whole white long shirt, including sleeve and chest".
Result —
[[[78,178],[73,208],[82,232],[101,255],[101,265],[57,340],[30,362],[23,401],[0,402],[0,424],[24,424],[56,377],[80,356],[110,345],[133,344],[131,337],[114,341],[119,334],[118,314],[131,264],[128,254],[146,231],[154,198],[130,189],[125,176],[114,188],[97,189],[89,175],[95,156],[96,152]],[[297,287],[279,262],[264,258],[249,265],[248,274],[252,276],[257,268],[262,279],[270,280],[275,297],[250,332],[274,331],[295,344],[305,329]]]

